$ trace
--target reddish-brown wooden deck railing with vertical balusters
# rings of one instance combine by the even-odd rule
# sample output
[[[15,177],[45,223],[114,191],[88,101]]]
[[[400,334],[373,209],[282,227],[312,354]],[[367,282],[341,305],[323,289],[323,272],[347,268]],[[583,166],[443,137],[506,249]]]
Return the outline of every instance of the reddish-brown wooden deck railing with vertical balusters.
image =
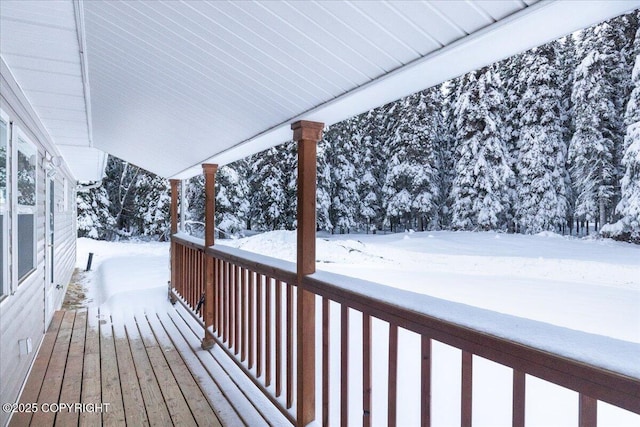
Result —
[[[251,254],[224,246],[205,248],[203,242],[174,236],[176,274],[173,285],[176,297],[191,310],[197,306],[203,290],[204,257],[214,259],[214,318],[211,332],[215,341],[253,380],[273,404],[296,424],[296,283],[295,264]],[[419,336],[420,360],[420,422],[431,425],[431,346],[441,342],[461,350],[460,420],[471,426],[474,357],[482,357],[513,370],[512,425],[525,423],[525,377],[532,375],[579,393],[579,424],[597,424],[597,401],[608,402],[640,414],[640,380],[583,362],[568,359],[508,339],[412,311],[362,292],[341,286],[352,279],[332,274],[314,274],[302,280],[306,291],[316,295],[321,306],[316,323],[317,369],[321,369],[321,423],[329,424],[332,393],[339,394],[339,419],[347,425],[349,400],[353,397],[349,372],[361,370],[362,384],[358,407],[362,408],[362,423],[371,425],[378,416],[372,404],[372,320],[382,322],[387,331],[387,424],[396,425],[398,405],[398,331],[410,331]],[[372,284],[372,286],[378,286]],[[339,316],[332,312],[339,311]],[[201,313],[202,311],[200,311]],[[339,363],[337,382],[331,384],[330,353],[336,338],[331,334],[332,320],[339,319]],[[361,337],[350,333],[350,322],[361,324]],[[335,327],[335,326],[334,326]],[[351,346],[357,344],[359,363],[353,363]],[[360,347],[362,350],[360,351]],[[335,352],[334,352],[335,353]],[[376,371],[377,372],[377,371]],[[337,408],[336,408],[337,410]]]

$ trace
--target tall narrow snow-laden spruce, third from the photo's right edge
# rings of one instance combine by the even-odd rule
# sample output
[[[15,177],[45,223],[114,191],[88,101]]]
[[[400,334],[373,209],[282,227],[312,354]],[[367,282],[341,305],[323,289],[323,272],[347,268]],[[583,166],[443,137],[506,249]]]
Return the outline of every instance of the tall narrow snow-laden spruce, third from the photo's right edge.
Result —
[[[521,231],[556,230],[567,215],[566,145],[556,44],[548,43],[523,58],[525,91],[518,104],[516,217]]]

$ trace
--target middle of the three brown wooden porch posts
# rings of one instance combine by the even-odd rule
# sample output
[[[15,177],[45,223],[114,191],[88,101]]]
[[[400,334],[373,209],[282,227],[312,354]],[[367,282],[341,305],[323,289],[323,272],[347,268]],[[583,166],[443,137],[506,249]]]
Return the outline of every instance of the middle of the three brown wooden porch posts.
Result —
[[[214,213],[216,210],[216,172],[218,165],[204,164],[204,245],[205,248],[213,246],[215,234]],[[210,328],[213,327],[213,287],[214,271],[213,258],[203,255],[205,258],[204,267],[204,337],[202,338],[202,348],[208,350],[213,347],[213,334]]]

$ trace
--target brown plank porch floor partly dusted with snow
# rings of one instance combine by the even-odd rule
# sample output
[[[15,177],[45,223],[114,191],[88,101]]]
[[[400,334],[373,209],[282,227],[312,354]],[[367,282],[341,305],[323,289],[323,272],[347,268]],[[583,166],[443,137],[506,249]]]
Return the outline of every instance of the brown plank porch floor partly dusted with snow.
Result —
[[[199,325],[167,307],[56,312],[19,400],[32,412],[9,425],[280,425],[222,351],[200,349]]]

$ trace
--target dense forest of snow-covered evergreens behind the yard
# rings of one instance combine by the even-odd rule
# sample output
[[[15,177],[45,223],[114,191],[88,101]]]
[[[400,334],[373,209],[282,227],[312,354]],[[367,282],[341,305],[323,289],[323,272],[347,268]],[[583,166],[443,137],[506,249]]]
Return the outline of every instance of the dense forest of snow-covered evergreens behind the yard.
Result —
[[[318,229],[640,241],[639,20],[636,10],[328,127]],[[103,182],[78,192],[79,235],[167,237],[167,180],[111,157]],[[292,142],[221,167],[217,227],[294,229],[295,187]],[[187,202],[201,233],[201,176]]]

